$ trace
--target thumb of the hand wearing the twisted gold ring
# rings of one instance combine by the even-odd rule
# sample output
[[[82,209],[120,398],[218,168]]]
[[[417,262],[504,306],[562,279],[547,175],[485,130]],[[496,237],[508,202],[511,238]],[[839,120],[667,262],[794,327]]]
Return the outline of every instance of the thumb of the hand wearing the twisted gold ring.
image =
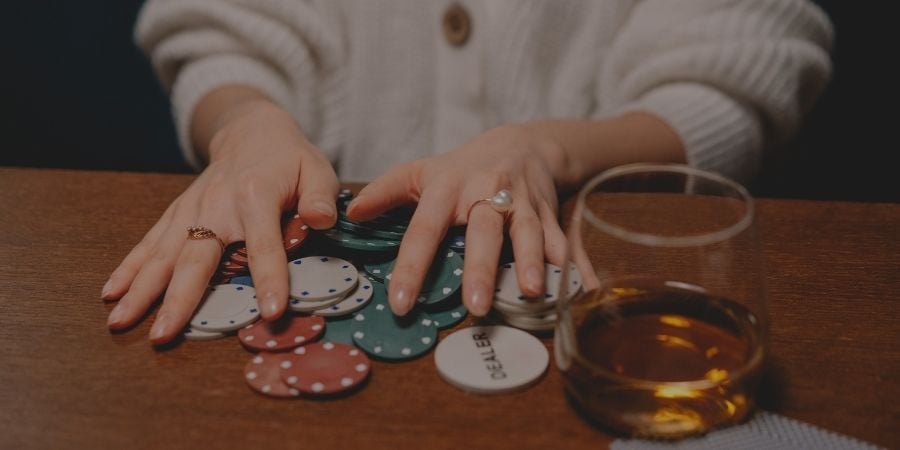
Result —
[[[300,218],[318,230],[331,228],[337,220],[334,199],[341,187],[334,168],[331,162],[318,154],[305,157],[301,167],[297,188],[300,192],[297,204]]]

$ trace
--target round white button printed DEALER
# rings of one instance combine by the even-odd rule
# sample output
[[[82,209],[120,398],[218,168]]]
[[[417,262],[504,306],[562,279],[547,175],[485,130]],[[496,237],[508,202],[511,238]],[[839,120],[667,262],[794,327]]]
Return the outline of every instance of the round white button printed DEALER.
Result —
[[[550,362],[536,337],[506,326],[470,327],[444,338],[434,353],[445,381],[478,394],[502,394],[537,382]]]

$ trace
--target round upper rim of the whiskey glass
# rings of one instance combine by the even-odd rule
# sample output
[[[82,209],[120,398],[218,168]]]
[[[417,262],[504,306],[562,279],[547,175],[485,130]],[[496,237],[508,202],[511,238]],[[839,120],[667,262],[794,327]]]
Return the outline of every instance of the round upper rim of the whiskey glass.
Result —
[[[739,195],[738,198],[747,205],[747,209],[744,211],[740,220],[718,231],[692,236],[664,237],[650,233],[632,231],[625,227],[613,225],[604,219],[598,218],[591,209],[587,207],[588,193],[593,192],[600,183],[622,175],[649,172],[678,173],[722,184],[737,192]],[[607,169],[600,174],[595,175],[585,183],[584,187],[581,188],[581,191],[578,193],[578,199],[576,201],[577,205],[581,205],[581,208],[576,207],[575,210],[581,211],[581,216],[584,220],[594,227],[624,241],[652,247],[700,247],[716,242],[722,242],[746,230],[750,224],[753,223],[753,216],[755,214],[753,197],[750,195],[750,192],[747,191],[747,188],[740,183],[713,172],[697,169],[686,164],[676,163],[634,163]],[[573,219],[577,220],[578,218]]]

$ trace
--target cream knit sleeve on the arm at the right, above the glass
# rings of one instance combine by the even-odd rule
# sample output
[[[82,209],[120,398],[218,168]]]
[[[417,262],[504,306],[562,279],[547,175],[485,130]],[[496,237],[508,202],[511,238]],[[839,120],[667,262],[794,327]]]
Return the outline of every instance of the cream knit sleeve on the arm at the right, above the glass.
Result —
[[[689,164],[746,182],[821,94],[831,42],[806,0],[645,0],[609,50],[600,104],[660,117]]]

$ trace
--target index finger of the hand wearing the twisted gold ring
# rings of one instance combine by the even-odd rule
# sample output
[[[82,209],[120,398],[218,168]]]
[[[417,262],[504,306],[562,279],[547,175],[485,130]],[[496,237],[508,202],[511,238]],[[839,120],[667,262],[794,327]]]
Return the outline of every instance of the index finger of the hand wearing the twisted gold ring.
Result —
[[[284,314],[290,290],[281,234],[281,210],[272,201],[276,198],[274,193],[260,195],[255,201],[242,202],[241,206],[250,272],[260,313],[265,320],[275,320]]]

